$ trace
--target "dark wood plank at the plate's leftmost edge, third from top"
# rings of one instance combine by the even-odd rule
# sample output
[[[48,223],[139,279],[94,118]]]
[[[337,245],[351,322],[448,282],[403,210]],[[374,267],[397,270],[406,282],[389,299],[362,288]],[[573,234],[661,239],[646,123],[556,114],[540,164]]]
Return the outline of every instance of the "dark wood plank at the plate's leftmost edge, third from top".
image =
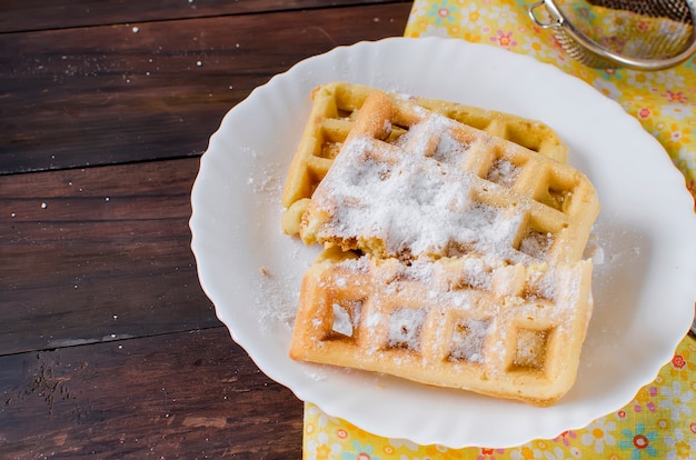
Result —
[[[198,159],[0,177],[0,354],[219,326],[190,251]]]

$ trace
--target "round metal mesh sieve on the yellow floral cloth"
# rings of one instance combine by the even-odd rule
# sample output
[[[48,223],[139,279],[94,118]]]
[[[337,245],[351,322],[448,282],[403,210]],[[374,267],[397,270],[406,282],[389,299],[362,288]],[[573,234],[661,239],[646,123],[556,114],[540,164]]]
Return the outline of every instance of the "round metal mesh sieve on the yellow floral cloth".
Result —
[[[585,66],[660,70],[696,52],[694,1],[539,0],[528,13]]]

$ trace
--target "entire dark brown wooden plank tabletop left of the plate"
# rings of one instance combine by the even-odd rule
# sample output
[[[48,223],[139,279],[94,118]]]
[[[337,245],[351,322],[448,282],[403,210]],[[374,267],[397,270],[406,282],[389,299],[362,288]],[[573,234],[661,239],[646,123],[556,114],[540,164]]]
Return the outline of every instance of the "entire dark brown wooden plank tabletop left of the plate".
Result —
[[[300,458],[302,402],[198,283],[190,190],[255,87],[411,2],[58,3],[0,13],[0,458]]]

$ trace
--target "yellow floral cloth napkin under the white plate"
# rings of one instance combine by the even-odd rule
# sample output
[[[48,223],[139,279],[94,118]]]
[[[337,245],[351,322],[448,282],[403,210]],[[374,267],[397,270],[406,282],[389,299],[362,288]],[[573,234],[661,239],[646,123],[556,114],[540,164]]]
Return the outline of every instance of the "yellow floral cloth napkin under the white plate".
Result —
[[[587,4],[578,2],[578,4]],[[576,11],[577,14],[591,13]],[[601,23],[593,18],[594,23]],[[609,24],[607,24],[608,27]],[[569,58],[551,32],[527,16],[525,0],[416,0],[405,36],[489,43],[556,64],[636,117],[684,173],[696,199],[696,57],[657,72],[603,70]],[[514,76],[510,76],[514,78]],[[695,236],[696,238],[696,236]],[[686,337],[672,361],[620,410],[555,439],[507,449],[448,449],[376,437],[305,406],[304,457],[339,460],[693,459],[696,458],[696,341]]]

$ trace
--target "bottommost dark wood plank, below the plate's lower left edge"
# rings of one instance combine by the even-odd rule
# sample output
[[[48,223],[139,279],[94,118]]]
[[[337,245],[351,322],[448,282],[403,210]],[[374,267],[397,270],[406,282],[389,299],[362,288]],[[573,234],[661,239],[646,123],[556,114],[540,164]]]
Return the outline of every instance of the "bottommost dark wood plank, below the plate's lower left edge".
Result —
[[[0,458],[299,459],[302,403],[223,328],[0,357]]]

